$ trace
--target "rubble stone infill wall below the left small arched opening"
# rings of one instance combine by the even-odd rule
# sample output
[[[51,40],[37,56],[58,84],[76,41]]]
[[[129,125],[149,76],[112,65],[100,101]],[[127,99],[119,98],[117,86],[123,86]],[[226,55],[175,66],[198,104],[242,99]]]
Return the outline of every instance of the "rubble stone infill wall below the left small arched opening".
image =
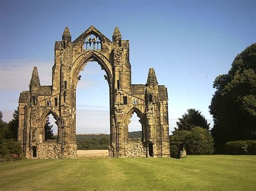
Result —
[[[39,159],[58,159],[60,155],[60,144],[52,140],[38,144],[37,156]]]

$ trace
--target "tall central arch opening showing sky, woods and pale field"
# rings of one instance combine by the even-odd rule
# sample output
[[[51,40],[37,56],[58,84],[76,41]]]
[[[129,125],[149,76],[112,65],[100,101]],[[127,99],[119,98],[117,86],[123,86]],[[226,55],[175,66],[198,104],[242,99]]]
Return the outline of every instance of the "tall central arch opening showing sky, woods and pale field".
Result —
[[[87,62],[78,74],[76,89],[76,143],[78,154],[91,157],[85,150],[103,150],[110,144],[109,84],[105,70],[97,62]],[[90,151],[92,153],[92,151]]]

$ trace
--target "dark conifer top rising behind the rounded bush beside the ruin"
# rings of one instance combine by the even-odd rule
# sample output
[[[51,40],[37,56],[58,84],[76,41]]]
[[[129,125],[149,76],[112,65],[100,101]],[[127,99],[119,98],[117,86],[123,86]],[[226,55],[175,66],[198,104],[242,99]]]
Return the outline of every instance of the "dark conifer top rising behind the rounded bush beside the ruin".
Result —
[[[177,126],[179,131],[191,131],[195,126],[200,126],[204,129],[209,129],[210,123],[207,123],[205,117],[196,109],[188,109],[182,118],[178,118]]]

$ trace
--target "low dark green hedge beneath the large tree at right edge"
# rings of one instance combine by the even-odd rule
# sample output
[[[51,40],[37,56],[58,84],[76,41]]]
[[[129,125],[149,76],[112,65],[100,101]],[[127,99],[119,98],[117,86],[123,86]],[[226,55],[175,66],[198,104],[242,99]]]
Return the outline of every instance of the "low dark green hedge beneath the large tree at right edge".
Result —
[[[237,140],[225,144],[226,154],[256,154],[256,140]]]

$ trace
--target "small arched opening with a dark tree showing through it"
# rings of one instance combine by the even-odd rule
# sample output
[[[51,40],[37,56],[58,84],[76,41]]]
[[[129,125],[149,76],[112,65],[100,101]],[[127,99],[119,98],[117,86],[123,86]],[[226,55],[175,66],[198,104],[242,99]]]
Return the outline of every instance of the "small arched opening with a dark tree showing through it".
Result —
[[[44,125],[44,140],[58,139],[58,126],[56,119],[50,114],[46,117]]]

